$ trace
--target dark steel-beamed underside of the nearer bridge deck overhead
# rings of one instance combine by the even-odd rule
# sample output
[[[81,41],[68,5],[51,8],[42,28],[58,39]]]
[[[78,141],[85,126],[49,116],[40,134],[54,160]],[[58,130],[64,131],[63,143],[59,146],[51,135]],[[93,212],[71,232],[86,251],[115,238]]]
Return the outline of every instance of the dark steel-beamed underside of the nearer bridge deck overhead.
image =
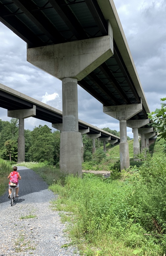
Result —
[[[108,35],[97,0],[0,0],[0,21],[29,48]],[[114,55],[78,84],[104,106],[140,103],[114,40]],[[131,119],[147,119],[145,107]]]

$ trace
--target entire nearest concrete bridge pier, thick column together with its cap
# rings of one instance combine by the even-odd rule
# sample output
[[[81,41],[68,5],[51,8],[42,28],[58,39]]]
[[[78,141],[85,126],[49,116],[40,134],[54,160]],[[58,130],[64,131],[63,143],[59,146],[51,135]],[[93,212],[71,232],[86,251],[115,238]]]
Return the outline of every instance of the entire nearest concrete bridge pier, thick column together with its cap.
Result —
[[[77,81],[113,55],[113,32],[80,41],[27,49],[27,61],[62,80],[63,132],[61,170],[82,175],[81,134],[78,132]]]

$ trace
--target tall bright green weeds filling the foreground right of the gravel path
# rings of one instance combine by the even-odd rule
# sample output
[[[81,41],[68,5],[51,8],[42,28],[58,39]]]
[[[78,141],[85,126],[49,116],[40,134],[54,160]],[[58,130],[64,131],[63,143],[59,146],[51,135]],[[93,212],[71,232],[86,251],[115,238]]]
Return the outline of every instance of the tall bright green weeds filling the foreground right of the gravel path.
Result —
[[[166,249],[166,163],[145,162],[120,181],[68,176],[52,207],[70,212],[69,232],[82,255],[163,256]],[[72,214],[71,214],[72,213]],[[68,217],[69,217],[68,216]],[[65,218],[64,218],[65,219]]]

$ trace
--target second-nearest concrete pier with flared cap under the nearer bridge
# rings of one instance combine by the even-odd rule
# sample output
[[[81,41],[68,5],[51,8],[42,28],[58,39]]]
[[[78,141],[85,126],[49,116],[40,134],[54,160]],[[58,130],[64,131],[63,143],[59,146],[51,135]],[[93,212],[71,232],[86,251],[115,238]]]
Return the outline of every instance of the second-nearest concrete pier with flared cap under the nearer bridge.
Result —
[[[142,101],[140,104],[133,104],[133,105],[110,106],[110,107],[103,106],[104,113],[120,121],[121,142],[119,144],[119,148],[120,148],[121,170],[123,170],[124,168],[128,168],[130,166],[126,120],[130,119],[132,116],[136,115],[141,110],[142,110]]]

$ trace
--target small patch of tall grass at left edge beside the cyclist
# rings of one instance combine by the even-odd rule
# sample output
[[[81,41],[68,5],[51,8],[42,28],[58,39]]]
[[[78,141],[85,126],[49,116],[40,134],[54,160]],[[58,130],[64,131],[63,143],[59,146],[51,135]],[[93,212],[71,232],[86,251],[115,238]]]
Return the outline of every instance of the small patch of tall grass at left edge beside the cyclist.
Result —
[[[0,196],[4,194],[8,186],[9,180],[7,176],[12,171],[10,162],[0,158]]]

